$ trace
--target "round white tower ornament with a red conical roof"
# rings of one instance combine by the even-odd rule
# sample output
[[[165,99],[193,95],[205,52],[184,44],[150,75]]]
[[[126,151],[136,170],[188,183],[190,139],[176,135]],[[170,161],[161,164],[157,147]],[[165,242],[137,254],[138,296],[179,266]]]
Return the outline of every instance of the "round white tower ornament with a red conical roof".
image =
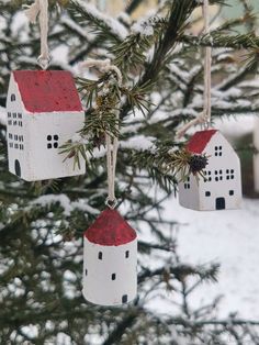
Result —
[[[83,236],[85,299],[120,305],[137,292],[137,235],[113,209],[104,210]]]

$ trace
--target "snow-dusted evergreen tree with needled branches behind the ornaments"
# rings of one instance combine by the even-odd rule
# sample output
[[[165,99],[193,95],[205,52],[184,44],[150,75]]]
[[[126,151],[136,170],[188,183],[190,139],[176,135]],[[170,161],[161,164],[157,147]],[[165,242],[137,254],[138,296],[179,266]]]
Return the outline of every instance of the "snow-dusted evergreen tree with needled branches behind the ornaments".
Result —
[[[119,18],[82,0],[49,2],[50,51],[61,47],[58,52],[67,54],[50,68],[76,73],[81,60],[109,57],[122,71],[123,86],[113,73],[77,76],[87,109],[85,140],[63,149],[76,164],[83,154],[86,176],[34,183],[12,176],[4,121],[9,76],[13,69],[38,68],[40,34],[37,25],[20,24],[22,1],[0,1],[0,343],[258,344],[259,322],[235,315],[218,320],[217,300],[190,305],[195,289],[216,282],[219,267],[182,264],[177,224],[162,213],[162,202],[177,190],[178,170],[192,169],[176,132],[202,111],[203,47],[214,48],[213,120],[258,112],[258,91],[244,82],[258,68],[254,9],[240,0],[241,18],[222,23],[216,15],[210,35],[193,35],[200,0],[158,1],[153,15],[138,22],[131,18],[144,0],[130,1]],[[103,136],[105,131],[119,135],[113,115],[119,100],[116,196],[120,211],[139,233],[138,297],[109,309],[81,296],[82,234],[105,207]],[[159,294],[172,303],[170,313],[148,307]]]

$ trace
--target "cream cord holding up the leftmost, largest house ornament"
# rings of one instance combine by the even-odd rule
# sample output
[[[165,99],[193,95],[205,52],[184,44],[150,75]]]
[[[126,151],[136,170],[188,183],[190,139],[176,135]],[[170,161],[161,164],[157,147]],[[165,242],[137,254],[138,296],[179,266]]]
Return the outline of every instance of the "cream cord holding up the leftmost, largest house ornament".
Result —
[[[47,69],[50,57],[48,54],[47,34],[48,34],[48,0],[35,0],[35,2],[25,10],[25,14],[31,23],[36,23],[40,16],[41,29],[41,55],[37,58],[42,69]]]

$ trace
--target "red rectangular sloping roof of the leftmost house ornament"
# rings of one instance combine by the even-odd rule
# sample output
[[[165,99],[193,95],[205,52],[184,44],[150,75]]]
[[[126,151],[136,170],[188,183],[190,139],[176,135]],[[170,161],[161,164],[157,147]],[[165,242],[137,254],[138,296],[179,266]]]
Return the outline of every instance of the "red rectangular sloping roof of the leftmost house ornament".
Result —
[[[66,70],[15,70],[25,109],[32,113],[81,111],[72,75]]]

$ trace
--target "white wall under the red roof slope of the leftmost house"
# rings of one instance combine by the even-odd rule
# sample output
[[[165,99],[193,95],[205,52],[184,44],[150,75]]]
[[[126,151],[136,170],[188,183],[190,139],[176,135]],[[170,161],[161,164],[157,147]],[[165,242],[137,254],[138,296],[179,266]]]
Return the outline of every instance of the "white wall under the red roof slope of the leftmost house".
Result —
[[[60,155],[60,149],[47,148],[48,143],[54,145],[54,135],[58,135],[58,146],[72,138],[82,129],[83,121],[83,112],[29,114],[30,172],[24,179],[33,181],[85,174],[86,162],[81,156],[80,169],[78,166],[74,169],[74,158],[63,162],[66,155]],[[50,142],[48,135],[53,138]]]

